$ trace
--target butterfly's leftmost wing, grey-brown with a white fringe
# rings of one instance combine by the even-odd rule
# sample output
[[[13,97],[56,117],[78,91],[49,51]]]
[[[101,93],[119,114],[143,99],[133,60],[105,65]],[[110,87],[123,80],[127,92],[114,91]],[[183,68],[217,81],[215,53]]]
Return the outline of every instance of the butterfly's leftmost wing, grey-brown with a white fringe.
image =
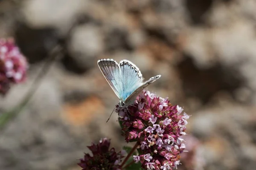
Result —
[[[111,86],[116,96],[120,98],[123,91],[121,71],[118,63],[113,59],[99,59],[98,65],[108,84]]]

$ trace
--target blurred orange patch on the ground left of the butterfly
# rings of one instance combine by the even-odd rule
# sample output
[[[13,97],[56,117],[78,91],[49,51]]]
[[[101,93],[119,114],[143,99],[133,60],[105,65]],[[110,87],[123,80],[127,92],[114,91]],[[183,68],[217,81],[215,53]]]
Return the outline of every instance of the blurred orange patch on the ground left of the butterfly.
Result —
[[[85,125],[94,116],[104,113],[104,105],[101,99],[96,96],[89,96],[77,104],[64,105],[65,119],[73,125]]]

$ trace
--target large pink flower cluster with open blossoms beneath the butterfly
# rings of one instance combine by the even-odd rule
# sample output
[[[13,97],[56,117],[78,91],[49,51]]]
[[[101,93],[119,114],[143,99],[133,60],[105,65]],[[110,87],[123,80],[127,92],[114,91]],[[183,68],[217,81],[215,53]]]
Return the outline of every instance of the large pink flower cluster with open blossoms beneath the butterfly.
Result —
[[[149,91],[137,97],[133,105],[119,108],[126,142],[139,142],[139,155],[143,169],[171,170],[180,164],[180,153],[185,149],[181,136],[186,135],[189,115],[178,105],[172,106],[168,99],[157,97]]]

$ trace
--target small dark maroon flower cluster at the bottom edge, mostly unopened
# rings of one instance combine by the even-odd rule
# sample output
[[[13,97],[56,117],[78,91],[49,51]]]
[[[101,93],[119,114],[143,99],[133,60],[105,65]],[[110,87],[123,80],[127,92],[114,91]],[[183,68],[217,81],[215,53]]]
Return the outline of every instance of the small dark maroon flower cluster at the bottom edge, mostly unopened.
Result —
[[[88,148],[93,153],[93,156],[85,153],[84,158],[80,159],[78,165],[82,170],[120,170],[121,159],[126,154],[125,151],[116,153],[114,148],[110,147],[110,140],[107,138],[101,139],[99,144],[92,143]]]

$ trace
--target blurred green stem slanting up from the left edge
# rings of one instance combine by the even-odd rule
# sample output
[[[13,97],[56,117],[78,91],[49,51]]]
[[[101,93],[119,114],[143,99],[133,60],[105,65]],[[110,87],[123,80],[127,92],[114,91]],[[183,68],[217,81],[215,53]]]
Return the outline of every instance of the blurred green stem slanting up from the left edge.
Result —
[[[30,99],[32,98],[33,94],[35,94],[35,91],[38,89],[39,85],[41,84],[42,80],[47,75],[50,66],[52,65],[54,60],[58,58],[58,55],[61,54],[60,51],[61,51],[60,46],[56,46],[55,48],[52,49],[51,54],[47,58],[43,67],[41,68],[41,71],[32,82],[32,85],[29,88],[29,91],[25,94],[21,102],[11,111],[8,111],[0,115],[0,130],[2,130],[11,119],[15,118],[15,116],[18,113],[20,113],[20,111],[22,111],[23,108],[26,107],[26,105],[29,103]]]

